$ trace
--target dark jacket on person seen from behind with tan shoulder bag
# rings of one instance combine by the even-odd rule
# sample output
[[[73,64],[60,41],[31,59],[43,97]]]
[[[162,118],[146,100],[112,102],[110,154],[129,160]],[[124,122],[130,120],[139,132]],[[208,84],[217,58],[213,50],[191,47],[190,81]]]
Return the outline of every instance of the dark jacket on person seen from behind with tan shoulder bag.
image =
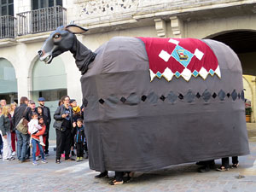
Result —
[[[25,110],[26,110],[26,113],[24,113]],[[14,129],[16,128],[18,123],[20,122],[20,119],[22,119],[23,117],[25,117],[25,119],[30,121],[30,119],[31,119],[30,114],[31,114],[31,108],[27,107],[27,105],[25,103],[22,103],[18,108],[15,108],[15,113],[14,113],[14,116],[13,116]]]

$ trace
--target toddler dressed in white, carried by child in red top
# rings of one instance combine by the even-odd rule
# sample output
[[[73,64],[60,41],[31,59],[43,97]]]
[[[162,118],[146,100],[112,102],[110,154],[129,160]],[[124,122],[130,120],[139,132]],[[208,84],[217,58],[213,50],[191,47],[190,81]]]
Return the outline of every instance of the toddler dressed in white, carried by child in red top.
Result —
[[[42,130],[42,127],[38,125],[38,113],[32,113],[32,119],[28,123],[28,131],[31,135],[37,134],[38,131]],[[43,141],[43,135],[38,137],[40,145],[45,146]],[[30,147],[32,147],[32,137],[30,139]]]

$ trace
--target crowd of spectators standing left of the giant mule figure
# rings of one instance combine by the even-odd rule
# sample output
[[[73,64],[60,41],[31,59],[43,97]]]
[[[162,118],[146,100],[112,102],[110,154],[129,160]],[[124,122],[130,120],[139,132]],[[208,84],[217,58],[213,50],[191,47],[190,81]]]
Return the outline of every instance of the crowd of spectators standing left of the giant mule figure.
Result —
[[[44,102],[44,97],[39,97],[36,107],[36,103],[26,96],[20,97],[20,106],[15,102],[8,105],[4,99],[0,101],[0,158],[3,161],[17,158],[19,163],[24,163],[30,161],[32,154],[32,165],[38,166],[40,158],[42,163],[47,163],[51,116]],[[83,123],[84,108],[81,108],[76,100],[62,96],[54,113],[57,164],[61,163],[61,157],[65,160],[75,160],[72,156],[76,155],[77,161],[88,158]],[[20,122],[24,123],[25,119],[27,133],[17,129]]]

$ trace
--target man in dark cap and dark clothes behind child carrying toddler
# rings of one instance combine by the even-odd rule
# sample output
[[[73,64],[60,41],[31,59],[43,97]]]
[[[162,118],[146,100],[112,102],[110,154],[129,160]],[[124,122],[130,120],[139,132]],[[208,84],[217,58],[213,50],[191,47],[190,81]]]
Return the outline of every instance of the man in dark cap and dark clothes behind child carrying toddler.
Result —
[[[49,108],[44,106],[44,102],[45,102],[44,97],[39,97],[38,98],[38,104],[41,108],[43,108],[43,113],[44,113],[44,116],[46,117],[46,122],[44,122],[44,124],[46,125],[47,135],[46,135],[46,140],[45,140],[44,153],[45,153],[46,156],[49,156],[49,124],[50,124],[51,118],[50,118]]]

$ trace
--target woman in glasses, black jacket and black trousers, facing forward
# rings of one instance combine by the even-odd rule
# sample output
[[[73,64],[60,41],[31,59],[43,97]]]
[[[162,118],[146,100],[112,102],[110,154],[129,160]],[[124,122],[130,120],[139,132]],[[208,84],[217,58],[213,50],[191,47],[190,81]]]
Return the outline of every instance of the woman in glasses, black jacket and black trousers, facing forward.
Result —
[[[63,104],[57,108],[54,114],[54,128],[56,130],[56,159],[55,163],[61,163],[61,153],[65,151],[65,160],[69,158],[71,147],[71,131],[73,123],[73,110],[69,106],[69,96],[62,96]]]

